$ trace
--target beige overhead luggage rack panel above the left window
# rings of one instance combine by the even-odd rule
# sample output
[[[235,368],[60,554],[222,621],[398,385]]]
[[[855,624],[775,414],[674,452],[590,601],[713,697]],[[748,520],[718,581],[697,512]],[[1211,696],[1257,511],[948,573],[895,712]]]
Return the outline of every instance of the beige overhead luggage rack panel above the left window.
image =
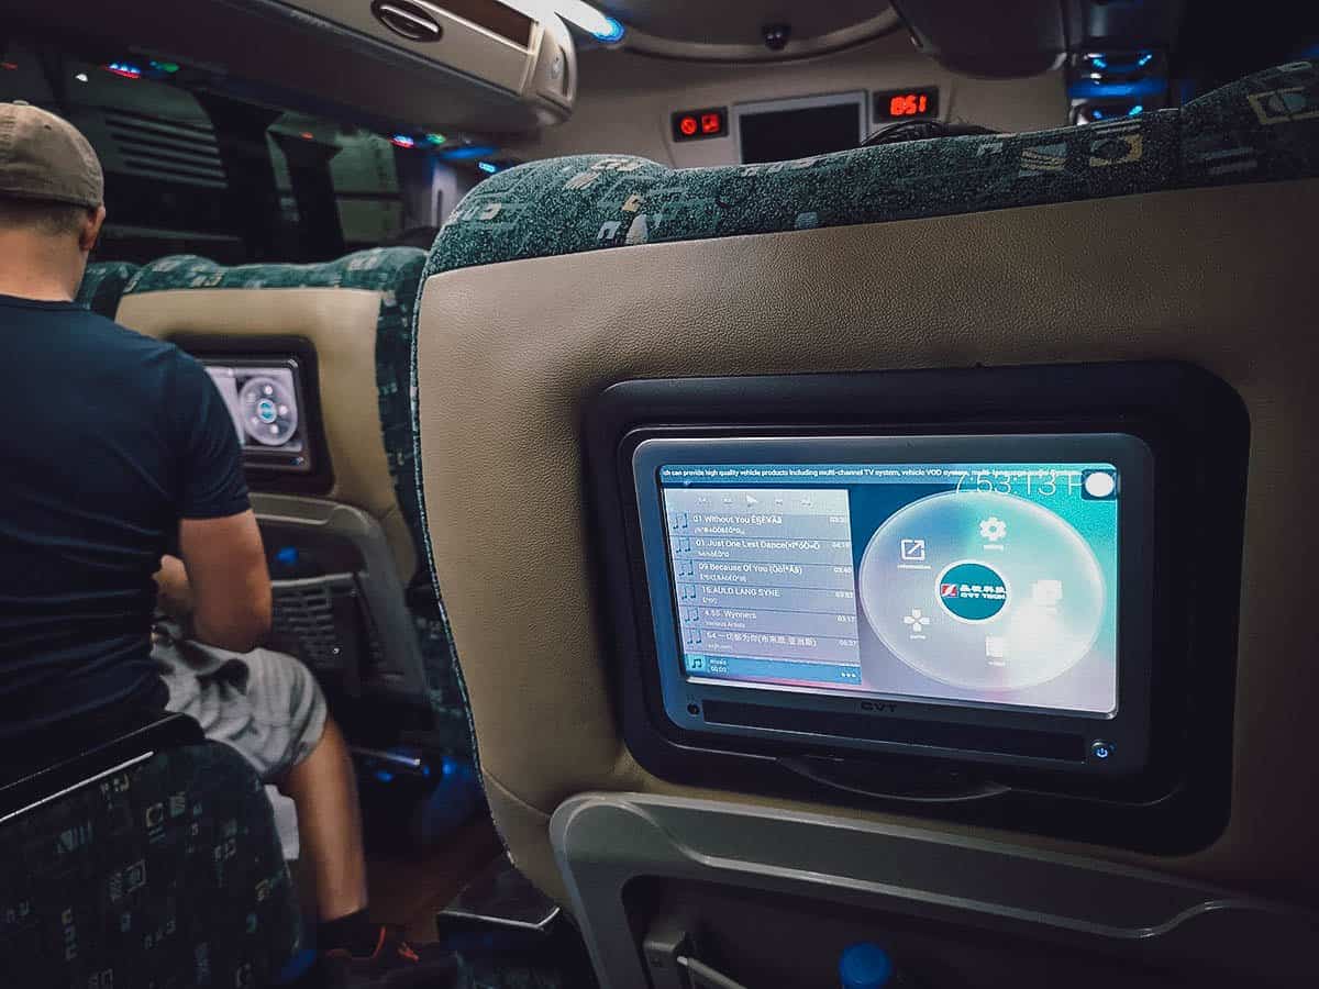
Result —
[[[186,62],[207,87],[385,128],[525,133],[576,96],[567,26],[501,0],[11,0],[44,36]]]

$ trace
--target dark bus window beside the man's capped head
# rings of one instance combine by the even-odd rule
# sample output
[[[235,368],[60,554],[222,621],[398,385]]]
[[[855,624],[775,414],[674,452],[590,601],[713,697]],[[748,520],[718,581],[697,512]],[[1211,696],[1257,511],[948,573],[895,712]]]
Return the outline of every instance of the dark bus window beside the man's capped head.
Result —
[[[0,100],[61,113],[100,156],[109,218],[99,260],[321,261],[427,247],[471,185],[423,146],[239,98],[224,83],[160,58],[99,61],[34,38],[9,40],[0,57]]]

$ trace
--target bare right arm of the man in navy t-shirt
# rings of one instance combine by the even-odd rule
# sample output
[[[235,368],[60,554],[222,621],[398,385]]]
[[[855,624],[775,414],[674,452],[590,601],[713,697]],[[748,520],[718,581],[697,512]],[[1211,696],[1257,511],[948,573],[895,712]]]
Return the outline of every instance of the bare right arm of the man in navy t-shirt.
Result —
[[[256,649],[270,630],[270,575],[256,516],[249,509],[226,518],[185,518],[178,530],[193,636],[235,653]]]

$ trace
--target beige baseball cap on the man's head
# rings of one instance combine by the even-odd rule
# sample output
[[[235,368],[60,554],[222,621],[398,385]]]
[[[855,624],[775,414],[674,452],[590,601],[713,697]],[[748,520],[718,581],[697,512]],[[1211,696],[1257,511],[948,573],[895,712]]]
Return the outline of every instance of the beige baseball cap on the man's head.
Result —
[[[0,103],[0,195],[95,210],[106,202],[96,152],[63,117]]]

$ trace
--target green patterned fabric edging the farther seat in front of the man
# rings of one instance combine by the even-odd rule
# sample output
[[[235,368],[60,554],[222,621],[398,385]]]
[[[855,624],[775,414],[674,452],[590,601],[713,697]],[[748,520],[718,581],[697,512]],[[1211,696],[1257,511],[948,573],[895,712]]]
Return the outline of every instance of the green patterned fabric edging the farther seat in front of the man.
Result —
[[[418,248],[373,248],[338,261],[311,265],[240,265],[226,268],[204,257],[177,255],[142,268],[125,294],[170,289],[367,289],[381,294],[376,323],[376,388],[389,472],[398,508],[417,547],[426,559],[421,527],[417,458],[412,438],[410,364],[413,309],[417,305],[426,252]],[[467,702],[454,657],[443,605],[423,580],[413,620],[426,667],[437,732],[454,754],[472,752]]]

